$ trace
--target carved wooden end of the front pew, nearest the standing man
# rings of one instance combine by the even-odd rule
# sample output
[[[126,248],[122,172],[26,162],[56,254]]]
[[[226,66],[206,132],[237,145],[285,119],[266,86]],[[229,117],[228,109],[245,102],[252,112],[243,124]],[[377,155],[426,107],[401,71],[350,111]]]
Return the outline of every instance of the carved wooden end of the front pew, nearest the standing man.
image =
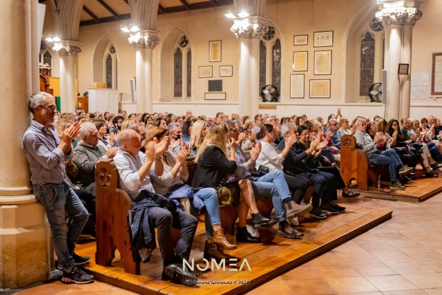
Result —
[[[111,266],[118,249],[124,272],[140,274],[140,262],[134,262],[127,231],[127,212],[131,197],[118,188],[119,174],[110,159],[101,159],[95,167],[95,212],[97,226],[97,265]]]

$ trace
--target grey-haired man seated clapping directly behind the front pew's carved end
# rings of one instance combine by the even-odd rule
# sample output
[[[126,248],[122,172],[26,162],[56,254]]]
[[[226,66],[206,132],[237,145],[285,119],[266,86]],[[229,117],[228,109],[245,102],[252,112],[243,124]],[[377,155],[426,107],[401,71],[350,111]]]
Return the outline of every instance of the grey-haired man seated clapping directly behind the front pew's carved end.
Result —
[[[73,162],[78,168],[77,184],[95,196],[95,164],[100,158],[110,158],[117,153],[117,147],[104,149],[98,144],[98,130],[92,122],[80,126],[81,142],[75,146]]]

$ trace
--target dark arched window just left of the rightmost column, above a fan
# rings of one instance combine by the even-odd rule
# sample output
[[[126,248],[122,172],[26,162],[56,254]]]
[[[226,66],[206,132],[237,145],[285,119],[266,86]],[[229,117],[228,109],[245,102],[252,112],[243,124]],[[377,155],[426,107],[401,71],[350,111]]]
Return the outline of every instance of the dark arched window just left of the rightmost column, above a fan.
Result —
[[[361,68],[359,95],[367,96],[368,88],[374,82],[374,36],[366,32],[361,40]]]

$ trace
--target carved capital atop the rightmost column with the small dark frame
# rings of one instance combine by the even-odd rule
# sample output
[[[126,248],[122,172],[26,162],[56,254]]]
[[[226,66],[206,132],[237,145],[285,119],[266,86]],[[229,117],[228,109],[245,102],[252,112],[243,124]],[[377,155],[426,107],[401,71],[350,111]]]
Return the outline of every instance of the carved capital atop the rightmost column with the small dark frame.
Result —
[[[419,7],[385,7],[376,12],[376,19],[387,26],[414,26],[422,17]]]

